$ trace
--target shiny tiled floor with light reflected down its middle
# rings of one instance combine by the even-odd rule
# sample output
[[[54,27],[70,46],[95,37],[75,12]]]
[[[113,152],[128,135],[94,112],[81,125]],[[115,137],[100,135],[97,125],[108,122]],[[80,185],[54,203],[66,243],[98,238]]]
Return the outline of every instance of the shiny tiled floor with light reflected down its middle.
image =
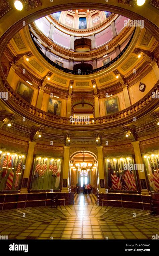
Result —
[[[102,208],[93,195],[76,195],[74,205],[0,213],[0,235],[8,239],[152,239],[154,234],[159,234],[159,216],[139,209]]]

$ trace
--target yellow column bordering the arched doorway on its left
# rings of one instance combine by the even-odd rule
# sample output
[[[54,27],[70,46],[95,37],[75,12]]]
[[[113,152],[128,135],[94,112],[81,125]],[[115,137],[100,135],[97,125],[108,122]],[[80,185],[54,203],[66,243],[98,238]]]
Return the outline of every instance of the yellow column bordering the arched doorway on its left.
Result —
[[[70,147],[64,146],[64,160],[63,160],[63,173],[62,173],[62,190],[61,192],[68,193],[69,186],[69,149]],[[65,187],[63,187],[65,185]]]

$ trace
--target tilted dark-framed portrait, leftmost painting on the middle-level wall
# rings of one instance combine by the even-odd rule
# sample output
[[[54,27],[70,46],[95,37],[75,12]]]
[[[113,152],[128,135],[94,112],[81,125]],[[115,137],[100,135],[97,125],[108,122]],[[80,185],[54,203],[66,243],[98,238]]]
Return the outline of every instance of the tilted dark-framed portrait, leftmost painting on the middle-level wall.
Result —
[[[31,103],[34,90],[22,82],[18,82],[16,88],[17,94],[19,94],[25,101]]]

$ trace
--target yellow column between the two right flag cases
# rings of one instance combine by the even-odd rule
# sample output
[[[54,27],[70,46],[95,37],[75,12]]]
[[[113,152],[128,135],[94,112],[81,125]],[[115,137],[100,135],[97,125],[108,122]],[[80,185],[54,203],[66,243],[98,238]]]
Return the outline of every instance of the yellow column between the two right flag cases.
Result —
[[[142,158],[141,152],[140,152],[140,141],[134,141],[134,142],[131,142],[131,144],[133,144],[133,147],[134,147],[136,164],[144,164],[143,158]],[[139,178],[140,178],[140,185],[141,185],[141,179],[145,179],[145,182],[147,183],[145,171],[144,172],[138,171],[138,174],[139,174]],[[141,186],[141,188],[142,188],[142,186]],[[141,194],[148,194],[148,189],[142,189]]]

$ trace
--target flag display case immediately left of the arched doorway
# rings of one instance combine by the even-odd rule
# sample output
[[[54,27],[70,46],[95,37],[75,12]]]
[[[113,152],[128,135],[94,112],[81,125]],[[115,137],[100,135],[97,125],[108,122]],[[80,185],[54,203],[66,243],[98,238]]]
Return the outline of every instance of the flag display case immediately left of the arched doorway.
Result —
[[[61,158],[36,156],[32,172],[31,190],[60,188]]]

